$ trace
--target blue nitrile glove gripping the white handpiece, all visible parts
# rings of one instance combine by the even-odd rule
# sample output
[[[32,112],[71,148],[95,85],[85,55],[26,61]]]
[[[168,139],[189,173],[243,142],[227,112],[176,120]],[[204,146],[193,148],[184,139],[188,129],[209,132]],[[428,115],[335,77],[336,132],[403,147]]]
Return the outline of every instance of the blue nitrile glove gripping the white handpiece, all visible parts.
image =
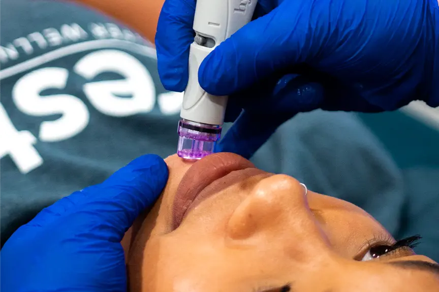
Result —
[[[168,90],[188,80],[195,4],[166,0],[160,15],[155,44]],[[259,0],[256,20],[199,70],[207,92],[231,95],[226,121],[237,118],[218,150],[249,157],[280,123],[318,108],[439,106],[438,17],[436,0]]]

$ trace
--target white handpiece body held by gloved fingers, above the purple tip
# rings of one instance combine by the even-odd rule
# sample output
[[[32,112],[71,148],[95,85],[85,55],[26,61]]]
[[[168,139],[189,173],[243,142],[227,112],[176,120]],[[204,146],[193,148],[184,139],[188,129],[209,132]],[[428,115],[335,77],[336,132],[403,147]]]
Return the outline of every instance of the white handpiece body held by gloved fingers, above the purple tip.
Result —
[[[227,96],[210,95],[198,83],[198,69],[219,43],[252,20],[257,0],[197,0],[196,37],[189,53],[189,82],[180,116],[197,123],[222,125]],[[227,62],[227,60],[224,60]]]

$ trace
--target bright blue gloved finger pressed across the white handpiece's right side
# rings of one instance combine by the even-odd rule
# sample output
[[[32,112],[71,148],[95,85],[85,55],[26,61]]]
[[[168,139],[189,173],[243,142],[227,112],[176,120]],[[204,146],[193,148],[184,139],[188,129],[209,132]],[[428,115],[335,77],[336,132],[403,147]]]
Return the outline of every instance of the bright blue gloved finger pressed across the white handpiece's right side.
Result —
[[[309,26],[306,17],[298,17],[309,8],[306,3],[293,1],[289,4],[292,7],[284,9],[284,2],[219,44],[201,63],[198,78],[203,89],[214,95],[230,95],[294,66],[302,59],[304,46],[309,45],[305,38],[312,36],[312,31],[298,29]]]

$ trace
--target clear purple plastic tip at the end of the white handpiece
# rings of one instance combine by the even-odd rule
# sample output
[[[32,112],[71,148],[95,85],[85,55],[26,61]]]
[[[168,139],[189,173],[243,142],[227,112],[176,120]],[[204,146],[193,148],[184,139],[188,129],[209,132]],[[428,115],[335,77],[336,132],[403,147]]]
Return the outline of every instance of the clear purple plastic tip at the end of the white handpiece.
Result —
[[[196,123],[188,120],[178,122],[177,155],[184,159],[201,159],[215,149],[216,141],[221,138],[222,127]]]

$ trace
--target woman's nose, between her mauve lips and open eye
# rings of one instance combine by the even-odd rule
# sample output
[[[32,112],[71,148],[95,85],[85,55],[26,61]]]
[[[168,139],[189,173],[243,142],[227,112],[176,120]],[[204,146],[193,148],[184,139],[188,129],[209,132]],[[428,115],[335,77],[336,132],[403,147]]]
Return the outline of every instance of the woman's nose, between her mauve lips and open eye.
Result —
[[[287,175],[261,180],[227,225],[232,240],[282,242],[291,254],[315,254],[328,240],[308,205],[305,187]]]

